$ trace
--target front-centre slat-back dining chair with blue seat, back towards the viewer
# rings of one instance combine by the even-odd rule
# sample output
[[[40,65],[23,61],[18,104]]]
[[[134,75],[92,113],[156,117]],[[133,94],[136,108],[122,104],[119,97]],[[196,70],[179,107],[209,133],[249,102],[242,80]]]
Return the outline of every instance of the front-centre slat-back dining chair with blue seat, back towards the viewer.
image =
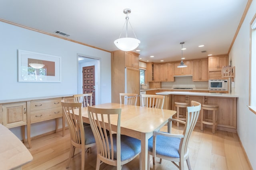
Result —
[[[123,164],[140,154],[140,140],[120,134],[121,108],[103,109],[88,106],[88,117],[96,140],[96,170],[100,169],[101,161],[120,170]],[[117,125],[117,129],[112,129],[112,124]]]

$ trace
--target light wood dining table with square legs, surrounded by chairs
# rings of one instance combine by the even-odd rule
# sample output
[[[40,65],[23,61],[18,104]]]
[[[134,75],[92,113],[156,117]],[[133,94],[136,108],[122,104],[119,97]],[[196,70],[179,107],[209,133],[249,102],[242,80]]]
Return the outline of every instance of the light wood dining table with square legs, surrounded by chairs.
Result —
[[[141,169],[148,168],[148,139],[152,137],[153,131],[161,129],[168,119],[171,118],[176,111],[167,109],[156,109],[149,107],[131,106],[117,103],[99,104],[92,107],[113,109],[122,108],[121,112],[121,134],[140,139],[141,141]],[[75,113],[78,114],[78,113]],[[82,119],[86,123],[89,122],[87,107],[82,108]],[[117,117],[113,117],[111,122],[116,122]],[[113,131],[116,125],[113,124]]]

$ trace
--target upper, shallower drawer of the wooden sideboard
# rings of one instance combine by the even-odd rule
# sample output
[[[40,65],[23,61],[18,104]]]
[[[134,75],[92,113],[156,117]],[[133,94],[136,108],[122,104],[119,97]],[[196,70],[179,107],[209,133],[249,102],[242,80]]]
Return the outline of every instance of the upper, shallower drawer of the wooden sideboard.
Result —
[[[58,107],[61,106],[61,101],[62,98],[59,99],[53,99],[53,100],[39,100],[39,101],[33,101],[30,104],[30,109],[31,110],[36,110],[36,109],[45,109],[49,107]]]

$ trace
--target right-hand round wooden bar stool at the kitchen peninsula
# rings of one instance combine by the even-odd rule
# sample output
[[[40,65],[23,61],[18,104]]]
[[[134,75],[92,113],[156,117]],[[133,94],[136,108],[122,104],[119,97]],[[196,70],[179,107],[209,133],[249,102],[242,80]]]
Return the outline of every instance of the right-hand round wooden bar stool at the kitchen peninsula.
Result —
[[[216,104],[202,104],[201,106],[201,131],[203,130],[203,124],[212,125],[212,133],[217,130],[217,111],[219,106]],[[212,119],[206,118],[204,121],[204,110],[212,111]],[[210,122],[211,121],[211,122]]]

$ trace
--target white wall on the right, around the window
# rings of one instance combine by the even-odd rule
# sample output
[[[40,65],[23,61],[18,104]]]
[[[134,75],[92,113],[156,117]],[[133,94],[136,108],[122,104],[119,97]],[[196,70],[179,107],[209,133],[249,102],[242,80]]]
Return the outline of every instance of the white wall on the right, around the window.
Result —
[[[249,104],[250,21],[255,12],[256,1],[252,1],[229,55],[232,66],[236,66],[235,87],[232,93],[239,96],[237,100],[237,132],[253,169],[256,169],[256,115],[249,111],[247,105]]]

